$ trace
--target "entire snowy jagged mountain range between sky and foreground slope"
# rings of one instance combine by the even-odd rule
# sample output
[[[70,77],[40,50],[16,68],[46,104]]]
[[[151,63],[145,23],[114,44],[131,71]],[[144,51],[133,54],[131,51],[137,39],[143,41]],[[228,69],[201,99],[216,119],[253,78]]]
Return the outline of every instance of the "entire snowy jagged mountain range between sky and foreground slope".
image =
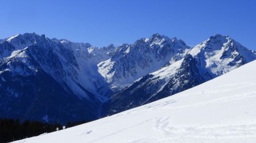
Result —
[[[255,51],[220,34],[195,47],[158,33],[118,47],[17,34],[0,42],[0,115],[60,123],[98,119],[255,59]]]

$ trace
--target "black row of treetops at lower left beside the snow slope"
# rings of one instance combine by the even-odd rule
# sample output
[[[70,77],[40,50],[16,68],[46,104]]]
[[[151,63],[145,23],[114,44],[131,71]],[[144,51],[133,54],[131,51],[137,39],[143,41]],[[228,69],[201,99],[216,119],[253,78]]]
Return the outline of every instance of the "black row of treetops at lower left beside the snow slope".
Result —
[[[65,125],[65,128],[87,122],[88,121],[85,120],[81,122],[68,122]],[[63,126],[59,123],[49,124],[30,120],[20,122],[19,119],[0,119],[0,143],[38,136],[42,135],[43,133],[54,132],[56,129],[63,129]]]

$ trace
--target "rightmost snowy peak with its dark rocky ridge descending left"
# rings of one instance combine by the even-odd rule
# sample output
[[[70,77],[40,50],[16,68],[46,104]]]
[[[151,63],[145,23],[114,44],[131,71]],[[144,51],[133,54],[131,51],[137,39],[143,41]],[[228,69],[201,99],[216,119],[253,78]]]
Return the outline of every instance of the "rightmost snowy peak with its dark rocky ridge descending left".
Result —
[[[105,112],[114,114],[162,99],[256,59],[255,51],[220,34],[178,55],[159,70],[114,93],[104,106]]]

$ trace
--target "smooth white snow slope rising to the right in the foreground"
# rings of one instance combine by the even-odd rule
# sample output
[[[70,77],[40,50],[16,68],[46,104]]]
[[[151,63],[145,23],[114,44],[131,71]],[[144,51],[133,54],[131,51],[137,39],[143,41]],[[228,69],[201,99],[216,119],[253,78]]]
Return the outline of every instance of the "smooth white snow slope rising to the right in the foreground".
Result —
[[[256,60],[174,96],[16,142],[256,142]]]

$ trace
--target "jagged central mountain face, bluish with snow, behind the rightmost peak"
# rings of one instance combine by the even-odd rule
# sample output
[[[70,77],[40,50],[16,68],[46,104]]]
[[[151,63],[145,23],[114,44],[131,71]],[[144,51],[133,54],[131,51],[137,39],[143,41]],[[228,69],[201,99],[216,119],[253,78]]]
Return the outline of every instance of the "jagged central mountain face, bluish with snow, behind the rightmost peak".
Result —
[[[158,33],[134,44],[119,46],[113,56],[98,64],[98,72],[113,89],[122,89],[140,77],[163,67],[175,55],[190,47],[182,40]]]

